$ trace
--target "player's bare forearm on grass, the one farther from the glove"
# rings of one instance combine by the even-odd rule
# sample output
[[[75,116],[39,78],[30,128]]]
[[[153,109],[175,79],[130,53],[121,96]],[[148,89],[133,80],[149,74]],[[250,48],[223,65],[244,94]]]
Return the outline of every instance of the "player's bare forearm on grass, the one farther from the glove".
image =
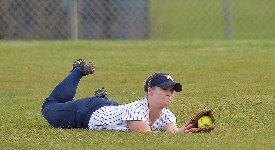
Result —
[[[136,120],[126,120],[128,126],[132,132],[161,132],[161,131],[152,131],[150,126],[145,121],[136,121]]]

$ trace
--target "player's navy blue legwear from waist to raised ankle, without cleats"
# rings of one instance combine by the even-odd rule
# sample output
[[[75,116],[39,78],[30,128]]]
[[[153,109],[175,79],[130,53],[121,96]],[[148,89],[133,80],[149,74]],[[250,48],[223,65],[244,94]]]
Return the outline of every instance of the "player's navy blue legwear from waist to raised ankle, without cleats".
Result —
[[[95,110],[103,106],[120,105],[116,101],[99,96],[73,101],[82,76],[82,71],[74,69],[45,99],[41,112],[50,125],[58,128],[87,128],[91,114]]]

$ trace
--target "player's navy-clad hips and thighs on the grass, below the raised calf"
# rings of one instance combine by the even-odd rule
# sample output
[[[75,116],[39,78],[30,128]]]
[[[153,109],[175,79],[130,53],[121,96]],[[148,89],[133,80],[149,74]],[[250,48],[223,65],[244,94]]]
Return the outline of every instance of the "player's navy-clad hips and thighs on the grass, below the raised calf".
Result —
[[[117,106],[119,103],[99,96],[81,98],[67,103],[57,103],[49,99],[42,115],[50,125],[58,128],[87,128],[91,114],[104,106]]]

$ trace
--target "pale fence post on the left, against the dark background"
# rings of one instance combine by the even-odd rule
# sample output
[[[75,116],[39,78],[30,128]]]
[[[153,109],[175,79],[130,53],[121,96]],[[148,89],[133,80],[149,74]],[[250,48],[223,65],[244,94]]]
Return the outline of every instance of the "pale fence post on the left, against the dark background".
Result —
[[[78,40],[78,21],[77,21],[77,3],[76,0],[70,1],[70,21],[71,21],[71,39]]]

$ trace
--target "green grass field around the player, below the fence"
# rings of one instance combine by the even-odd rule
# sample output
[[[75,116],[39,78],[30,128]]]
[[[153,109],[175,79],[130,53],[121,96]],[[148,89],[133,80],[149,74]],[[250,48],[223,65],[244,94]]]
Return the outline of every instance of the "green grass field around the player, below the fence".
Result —
[[[0,56],[0,149],[275,148],[275,40],[0,41]],[[110,99],[135,101],[160,71],[183,85],[168,107],[178,127],[204,106],[217,127],[209,134],[53,128],[41,106],[76,58],[97,68],[75,99],[104,85]]]

